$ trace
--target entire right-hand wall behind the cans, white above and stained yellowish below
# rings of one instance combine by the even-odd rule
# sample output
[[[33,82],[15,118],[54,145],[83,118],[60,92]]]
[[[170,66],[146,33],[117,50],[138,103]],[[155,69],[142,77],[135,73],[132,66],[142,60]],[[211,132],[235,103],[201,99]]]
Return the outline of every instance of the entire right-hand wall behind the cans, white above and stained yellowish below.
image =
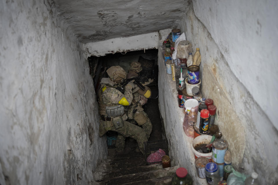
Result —
[[[220,108],[216,123],[233,162],[261,184],[278,183],[276,9],[277,1],[193,1],[180,24],[200,47],[203,95]]]

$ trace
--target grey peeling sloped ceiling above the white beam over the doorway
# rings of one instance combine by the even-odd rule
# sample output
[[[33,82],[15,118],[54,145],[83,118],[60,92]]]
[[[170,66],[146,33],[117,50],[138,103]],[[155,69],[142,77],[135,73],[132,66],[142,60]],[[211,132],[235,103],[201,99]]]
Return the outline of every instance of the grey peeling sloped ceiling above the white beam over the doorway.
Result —
[[[82,43],[176,28],[191,0],[54,0]]]

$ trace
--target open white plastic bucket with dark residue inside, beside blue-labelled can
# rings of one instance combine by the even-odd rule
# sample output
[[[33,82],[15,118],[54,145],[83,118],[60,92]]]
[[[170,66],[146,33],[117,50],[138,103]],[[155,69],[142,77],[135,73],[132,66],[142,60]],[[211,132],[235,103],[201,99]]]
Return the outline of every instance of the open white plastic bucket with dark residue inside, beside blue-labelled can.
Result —
[[[194,152],[195,159],[197,159],[198,157],[205,157],[209,160],[209,162],[211,162],[212,152],[210,152],[210,153],[201,153],[201,152],[198,152],[197,150],[194,149],[194,147],[197,144],[210,143],[211,138],[212,138],[212,136],[210,136],[210,135],[200,135],[200,136],[197,136],[193,139],[191,147],[192,147],[192,150]]]

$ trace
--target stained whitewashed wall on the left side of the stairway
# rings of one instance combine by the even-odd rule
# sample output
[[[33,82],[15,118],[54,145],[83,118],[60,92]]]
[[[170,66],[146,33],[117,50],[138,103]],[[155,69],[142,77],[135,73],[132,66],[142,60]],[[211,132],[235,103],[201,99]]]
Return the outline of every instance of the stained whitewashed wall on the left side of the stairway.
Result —
[[[86,57],[49,1],[0,1],[0,184],[89,184],[107,155]]]

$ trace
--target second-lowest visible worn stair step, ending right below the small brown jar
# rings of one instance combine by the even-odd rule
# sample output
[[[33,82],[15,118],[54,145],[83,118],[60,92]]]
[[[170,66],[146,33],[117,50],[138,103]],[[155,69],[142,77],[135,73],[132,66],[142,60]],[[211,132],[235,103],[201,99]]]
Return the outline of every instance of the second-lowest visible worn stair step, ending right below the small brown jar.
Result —
[[[178,169],[178,166],[174,166],[174,167],[169,167],[169,168],[164,168],[164,169],[158,169],[158,170],[140,172],[140,173],[133,173],[133,174],[113,177],[113,178],[109,178],[109,179],[97,180],[96,182],[101,182],[100,184],[105,184],[105,185],[138,182],[138,181],[148,180],[148,179],[153,179],[153,178],[172,176],[172,175],[174,175],[174,173],[177,169]]]

